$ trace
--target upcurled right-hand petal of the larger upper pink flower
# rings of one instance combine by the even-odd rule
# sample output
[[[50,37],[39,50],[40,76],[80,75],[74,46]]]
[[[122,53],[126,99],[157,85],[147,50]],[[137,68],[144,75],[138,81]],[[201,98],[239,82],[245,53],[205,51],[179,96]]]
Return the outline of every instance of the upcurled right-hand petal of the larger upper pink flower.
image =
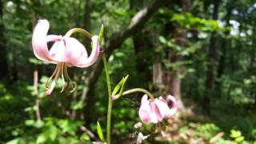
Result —
[[[78,66],[78,67],[88,67],[91,66],[92,64],[94,64],[94,62],[97,61],[98,59],[98,55],[100,53],[100,45],[98,42],[98,36],[93,36],[92,38],[92,42],[93,42],[93,50],[89,56],[89,58],[79,58],[79,62],[74,65],[74,66]]]

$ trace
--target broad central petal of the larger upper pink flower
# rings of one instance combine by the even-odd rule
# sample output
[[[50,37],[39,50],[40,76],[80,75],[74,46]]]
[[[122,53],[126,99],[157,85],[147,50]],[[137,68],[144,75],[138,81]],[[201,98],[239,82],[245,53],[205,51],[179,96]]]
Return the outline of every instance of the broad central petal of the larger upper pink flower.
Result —
[[[72,66],[76,66],[80,61],[86,61],[88,57],[85,46],[76,38],[66,38],[66,53],[63,62],[69,62]]]

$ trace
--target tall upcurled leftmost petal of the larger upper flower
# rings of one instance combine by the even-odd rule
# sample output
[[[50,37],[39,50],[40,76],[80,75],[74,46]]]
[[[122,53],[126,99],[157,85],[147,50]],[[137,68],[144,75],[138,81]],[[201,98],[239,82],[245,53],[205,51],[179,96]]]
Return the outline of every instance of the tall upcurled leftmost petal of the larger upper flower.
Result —
[[[32,46],[34,55],[46,62],[50,62],[49,50],[47,47],[47,32],[49,30],[50,24],[47,20],[38,20],[37,25],[34,27],[34,32],[32,35]]]

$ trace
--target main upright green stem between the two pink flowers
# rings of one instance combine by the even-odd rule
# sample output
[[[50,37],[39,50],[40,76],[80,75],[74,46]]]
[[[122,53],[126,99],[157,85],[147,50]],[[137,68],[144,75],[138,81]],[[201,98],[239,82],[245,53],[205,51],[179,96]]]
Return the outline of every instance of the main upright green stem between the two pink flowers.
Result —
[[[110,84],[110,73],[109,73],[109,67],[106,62],[106,54],[102,54],[102,59],[103,59],[103,64],[104,64],[104,69],[105,69],[105,74],[106,74],[106,84],[107,84],[107,91],[109,94],[109,102],[108,102],[108,108],[107,108],[107,118],[106,118],[106,143],[110,144],[111,143],[111,134],[110,134],[110,129],[111,129],[111,113],[112,113],[112,98],[111,98],[111,84]]]

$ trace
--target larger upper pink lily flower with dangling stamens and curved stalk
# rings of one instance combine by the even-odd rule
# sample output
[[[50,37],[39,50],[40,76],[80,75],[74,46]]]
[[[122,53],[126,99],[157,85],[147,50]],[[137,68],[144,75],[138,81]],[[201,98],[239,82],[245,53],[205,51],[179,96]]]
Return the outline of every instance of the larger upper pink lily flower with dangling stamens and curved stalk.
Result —
[[[100,53],[101,46],[98,36],[90,36],[86,30],[80,28],[69,30],[63,37],[62,35],[47,35],[49,28],[50,24],[47,20],[38,20],[32,36],[34,55],[44,62],[56,64],[54,73],[46,80],[46,95],[49,96],[52,93],[60,77],[62,78],[61,92],[66,90],[71,84],[70,93],[72,93],[76,90],[76,84],[70,79],[67,67],[77,66],[83,68],[93,65]],[[89,57],[85,46],[76,38],[70,37],[75,32],[82,32],[91,38],[92,52]],[[48,42],[54,42],[50,50],[47,46]]]

